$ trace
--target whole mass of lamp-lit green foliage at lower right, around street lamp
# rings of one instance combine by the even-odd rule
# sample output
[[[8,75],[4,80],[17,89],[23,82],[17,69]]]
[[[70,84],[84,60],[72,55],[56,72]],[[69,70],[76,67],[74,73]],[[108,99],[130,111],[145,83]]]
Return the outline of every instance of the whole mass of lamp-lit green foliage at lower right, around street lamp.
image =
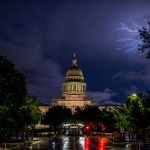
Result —
[[[150,126],[150,96],[137,94],[128,97],[121,109],[115,114],[116,128],[131,132],[136,128]]]

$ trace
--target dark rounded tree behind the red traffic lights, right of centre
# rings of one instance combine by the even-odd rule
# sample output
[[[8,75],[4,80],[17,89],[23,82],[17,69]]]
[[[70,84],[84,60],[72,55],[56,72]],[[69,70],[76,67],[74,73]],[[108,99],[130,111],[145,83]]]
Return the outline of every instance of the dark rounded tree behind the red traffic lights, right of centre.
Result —
[[[77,108],[76,120],[83,122],[86,127],[90,126],[90,131],[112,130],[114,117],[111,110],[100,110],[98,106],[86,106],[84,109]]]

